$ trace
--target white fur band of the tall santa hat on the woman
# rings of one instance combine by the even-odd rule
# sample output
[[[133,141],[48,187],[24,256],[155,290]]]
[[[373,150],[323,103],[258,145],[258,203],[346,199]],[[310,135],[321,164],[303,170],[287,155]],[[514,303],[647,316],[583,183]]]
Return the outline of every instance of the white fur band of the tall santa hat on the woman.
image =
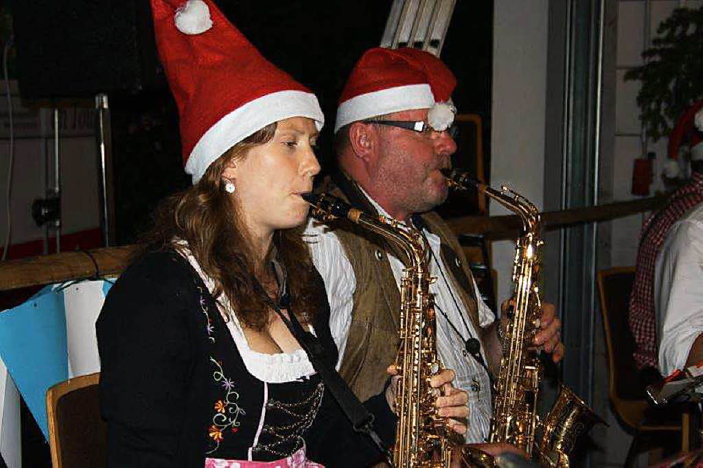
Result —
[[[289,117],[309,117],[315,121],[318,130],[325,123],[325,116],[312,93],[278,91],[266,94],[236,108],[211,126],[188,156],[186,173],[193,176],[193,184],[197,183],[209,165],[229,148],[264,126]]]

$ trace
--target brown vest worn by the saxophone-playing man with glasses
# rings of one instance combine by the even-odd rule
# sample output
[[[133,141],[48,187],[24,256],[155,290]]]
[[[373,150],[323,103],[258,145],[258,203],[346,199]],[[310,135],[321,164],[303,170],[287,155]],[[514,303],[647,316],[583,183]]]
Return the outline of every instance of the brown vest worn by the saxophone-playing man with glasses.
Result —
[[[322,190],[347,200],[342,191],[325,181]],[[471,271],[456,236],[434,212],[423,214],[427,228],[441,240],[441,260],[449,269],[449,280],[470,320],[479,330]],[[400,292],[388,254],[394,248],[373,233],[347,221],[330,223],[354,269],[356,290],[352,324],[344,349],[340,374],[361,401],[379,394],[387,381],[386,368],[398,352]],[[480,337],[479,337],[480,338]]]

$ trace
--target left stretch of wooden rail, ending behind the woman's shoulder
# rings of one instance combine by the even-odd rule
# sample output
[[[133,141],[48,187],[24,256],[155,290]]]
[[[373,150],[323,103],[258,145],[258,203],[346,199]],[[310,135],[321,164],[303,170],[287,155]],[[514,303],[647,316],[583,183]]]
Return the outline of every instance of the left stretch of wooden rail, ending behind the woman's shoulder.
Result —
[[[133,250],[134,246],[129,245],[4,261],[0,263],[0,291],[93,276],[119,275],[127,266],[127,259]]]

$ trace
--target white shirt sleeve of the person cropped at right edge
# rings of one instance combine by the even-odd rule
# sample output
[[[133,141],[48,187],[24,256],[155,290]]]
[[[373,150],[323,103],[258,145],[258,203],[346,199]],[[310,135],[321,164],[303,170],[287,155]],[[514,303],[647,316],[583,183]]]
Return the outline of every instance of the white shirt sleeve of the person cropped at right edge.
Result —
[[[654,273],[659,370],[669,375],[685,367],[703,332],[703,223],[688,219],[671,229]]]

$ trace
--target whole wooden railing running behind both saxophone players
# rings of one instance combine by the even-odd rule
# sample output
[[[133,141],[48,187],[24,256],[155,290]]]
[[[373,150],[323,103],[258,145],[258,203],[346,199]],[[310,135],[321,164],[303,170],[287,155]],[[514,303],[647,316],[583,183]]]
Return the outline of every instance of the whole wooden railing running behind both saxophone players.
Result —
[[[666,197],[657,196],[603,204],[598,207],[546,212],[543,224],[546,230],[566,228],[593,221],[608,221],[631,214],[657,209]],[[489,240],[508,240],[517,237],[520,220],[517,216],[463,216],[451,219],[449,226],[456,233],[484,234]],[[46,285],[53,282],[78,280],[96,276],[120,274],[127,265],[134,246],[109,247],[86,252],[65,252],[0,263],[0,291],[18,287]]]

